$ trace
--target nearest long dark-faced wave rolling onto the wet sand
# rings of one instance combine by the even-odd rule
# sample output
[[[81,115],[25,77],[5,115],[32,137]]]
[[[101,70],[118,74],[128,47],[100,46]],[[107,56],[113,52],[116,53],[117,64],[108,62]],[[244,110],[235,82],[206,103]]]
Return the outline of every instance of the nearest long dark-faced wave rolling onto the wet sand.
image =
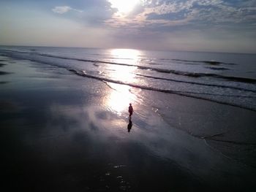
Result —
[[[213,102],[216,102],[216,103],[219,103],[219,104],[226,104],[226,105],[230,105],[230,106],[233,106],[233,107],[240,107],[240,108],[243,108],[243,109],[246,109],[246,110],[252,110],[252,111],[256,112],[256,109],[252,108],[251,106],[242,106],[242,105],[239,105],[239,104],[233,104],[233,103],[226,102],[226,101],[218,101],[217,99],[210,99],[210,98],[206,98],[206,97],[203,97],[203,96],[193,95],[193,94],[197,94],[197,95],[223,96],[222,94],[196,93],[196,92],[189,92],[189,91],[173,91],[173,90],[167,90],[167,89],[161,89],[161,88],[153,88],[153,87],[149,87],[149,86],[146,86],[146,85],[136,85],[136,84],[132,84],[132,83],[129,83],[129,82],[122,82],[122,81],[119,81],[119,80],[111,80],[111,79],[108,79],[108,78],[105,78],[105,77],[97,77],[97,76],[94,76],[94,75],[91,75],[91,74],[87,74],[85,71],[78,71],[78,70],[75,70],[75,69],[68,69],[68,70],[69,70],[69,72],[73,72],[74,74],[78,74],[79,76],[88,77],[88,78],[92,78],[92,79],[95,79],[95,80],[100,80],[102,82],[113,82],[113,83],[117,83],[117,84],[121,84],[121,85],[129,85],[129,86],[134,87],[134,88],[141,88],[141,89],[148,90],[148,91],[158,91],[158,92],[162,92],[162,93],[172,93],[172,94],[176,94],[176,95],[180,95],[180,96],[187,96],[187,97],[192,97],[192,98],[196,98],[196,99],[203,99],[203,100],[206,100],[206,101],[213,101]],[[226,95],[226,96],[231,97],[232,95]],[[253,96],[238,96],[238,97],[252,98]]]

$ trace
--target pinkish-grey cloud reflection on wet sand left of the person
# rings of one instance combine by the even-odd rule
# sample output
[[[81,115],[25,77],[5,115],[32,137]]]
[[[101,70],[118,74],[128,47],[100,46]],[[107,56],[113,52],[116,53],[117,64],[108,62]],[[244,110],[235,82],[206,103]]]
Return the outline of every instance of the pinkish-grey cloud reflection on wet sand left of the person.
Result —
[[[75,122],[75,126],[69,128],[69,131],[86,131],[86,134],[91,136],[97,134],[97,137],[101,139],[110,134],[120,135],[126,125],[126,122],[116,114],[101,110],[97,106],[79,107],[54,104],[50,107],[50,111],[53,120],[57,120],[62,126],[66,126],[67,120]]]

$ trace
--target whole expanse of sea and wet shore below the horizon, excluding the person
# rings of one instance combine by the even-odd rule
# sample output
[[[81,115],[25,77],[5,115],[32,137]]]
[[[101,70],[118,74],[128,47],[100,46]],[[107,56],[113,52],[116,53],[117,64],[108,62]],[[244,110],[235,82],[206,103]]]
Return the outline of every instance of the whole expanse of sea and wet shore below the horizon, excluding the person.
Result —
[[[250,191],[255,61],[1,46],[3,183],[19,191]]]

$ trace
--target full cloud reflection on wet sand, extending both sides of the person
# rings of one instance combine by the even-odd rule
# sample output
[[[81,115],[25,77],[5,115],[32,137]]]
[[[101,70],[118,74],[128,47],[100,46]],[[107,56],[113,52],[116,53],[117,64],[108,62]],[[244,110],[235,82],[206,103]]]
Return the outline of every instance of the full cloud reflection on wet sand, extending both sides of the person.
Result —
[[[213,167],[213,174],[221,174],[226,164],[230,163],[205,145],[203,139],[171,128],[154,112],[146,112],[148,121],[141,120],[138,116],[133,118],[130,133],[127,133],[127,119],[124,120],[101,107],[55,105],[51,107],[51,112],[54,119],[76,122],[75,127],[67,130],[70,134],[86,134],[91,142],[110,144],[118,141],[118,145],[123,142],[137,143],[145,147],[151,155],[165,161],[173,161],[181,168],[189,169],[193,174],[200,176],[208,175]],[[225,171],[233,174],[236,169],[225,168]]]

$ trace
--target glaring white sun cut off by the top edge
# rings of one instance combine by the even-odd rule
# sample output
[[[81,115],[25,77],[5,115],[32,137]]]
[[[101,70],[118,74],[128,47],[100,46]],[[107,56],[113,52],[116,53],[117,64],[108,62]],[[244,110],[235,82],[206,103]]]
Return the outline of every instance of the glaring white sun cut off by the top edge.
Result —
[[[128,13],[139,3],[139,0],[108,0],[112,8],[118,9],[118,12]]]

